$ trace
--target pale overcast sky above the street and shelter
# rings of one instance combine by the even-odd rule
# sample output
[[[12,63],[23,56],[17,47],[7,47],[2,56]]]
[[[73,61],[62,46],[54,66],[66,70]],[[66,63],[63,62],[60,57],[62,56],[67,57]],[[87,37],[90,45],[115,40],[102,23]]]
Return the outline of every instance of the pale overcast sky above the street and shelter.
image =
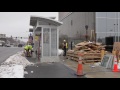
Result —
[[[7,37],[27,37],[31,15],[56,17],[58,20],[58,12],[0,12],[0,34],[6,34]]]

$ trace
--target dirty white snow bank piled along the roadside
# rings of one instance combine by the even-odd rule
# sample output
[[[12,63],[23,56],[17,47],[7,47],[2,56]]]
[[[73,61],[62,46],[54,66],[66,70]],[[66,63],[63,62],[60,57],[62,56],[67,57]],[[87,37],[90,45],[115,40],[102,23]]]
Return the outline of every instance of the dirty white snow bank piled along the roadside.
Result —
[[[28,65],[34,65],[25,57],[21,56],[23,52],[10,56],[0,66],[0,78],[24,78],[24,69]]]

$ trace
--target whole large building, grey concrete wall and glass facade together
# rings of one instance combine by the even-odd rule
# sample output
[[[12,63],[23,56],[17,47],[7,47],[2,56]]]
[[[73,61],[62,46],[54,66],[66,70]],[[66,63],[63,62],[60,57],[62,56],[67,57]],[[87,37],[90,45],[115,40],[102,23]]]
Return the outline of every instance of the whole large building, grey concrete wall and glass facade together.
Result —
[[[120,41],[120,12],[59,12],[60,42],[87,40],[113,45]],[[85,26],[88,26],[86,30]],[[109,40],[110,39],[110,40]]]

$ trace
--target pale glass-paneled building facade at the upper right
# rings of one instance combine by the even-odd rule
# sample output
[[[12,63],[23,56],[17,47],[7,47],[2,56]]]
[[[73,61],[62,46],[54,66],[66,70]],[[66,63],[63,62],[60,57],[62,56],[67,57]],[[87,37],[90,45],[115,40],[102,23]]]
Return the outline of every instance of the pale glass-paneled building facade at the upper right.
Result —
[[[119,27],[120,12],[96,12],[97,42],[106,44],[106,37],[113,37],[113,42],[120,42]]]

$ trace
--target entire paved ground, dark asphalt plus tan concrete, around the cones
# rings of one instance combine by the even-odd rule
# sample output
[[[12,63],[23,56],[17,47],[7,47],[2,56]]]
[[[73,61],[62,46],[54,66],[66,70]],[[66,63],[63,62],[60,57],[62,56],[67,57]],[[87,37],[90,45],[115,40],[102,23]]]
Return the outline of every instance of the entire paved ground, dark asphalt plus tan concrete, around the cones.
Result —
[[[28,58],[35,66],[26,67],[25,78],[120,78],[120,72],[112,72],[94,63],[83,64],[85,76],[76,76],[78,62],[60,57],[60,62],[40,63],[37,59]],[[94,66],[94,67],[93,67]]]

